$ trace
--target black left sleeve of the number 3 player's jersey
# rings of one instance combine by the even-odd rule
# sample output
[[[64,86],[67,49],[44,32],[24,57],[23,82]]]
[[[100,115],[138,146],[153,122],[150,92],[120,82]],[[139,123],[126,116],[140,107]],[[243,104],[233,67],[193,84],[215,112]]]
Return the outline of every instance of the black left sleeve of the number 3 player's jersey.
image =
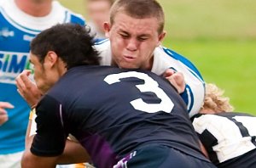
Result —
[[[47,95],[40,101],[36,109],[37,134],[31,152],[38,156],[60,155],[67,139],[64,126],[64,113],[61,104]]]

